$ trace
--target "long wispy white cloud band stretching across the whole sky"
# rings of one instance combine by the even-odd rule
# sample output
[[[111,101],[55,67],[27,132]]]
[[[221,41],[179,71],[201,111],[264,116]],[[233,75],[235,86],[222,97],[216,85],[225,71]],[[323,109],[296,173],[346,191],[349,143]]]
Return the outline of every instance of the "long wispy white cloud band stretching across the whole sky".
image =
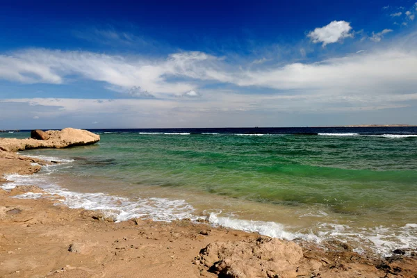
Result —
[[[384,30],[375,34],[389,33]],[[416,85],[417,54],[414,49],[386,49],[332,58],[316,63],[236,65],[223,57],[198,51],[149,60],[139,56],[108,56],[85,51],[28,49],[0,56],[0,78],[22,83],[67,82],[71,76],[100,81],[127,95],[167,97],[204,88],[206,82],[237,88],[275,90],[385,90],[386,82]],[[352,82],[354,81],[354,82]],[[415,81],[415,82],[412,82]]]

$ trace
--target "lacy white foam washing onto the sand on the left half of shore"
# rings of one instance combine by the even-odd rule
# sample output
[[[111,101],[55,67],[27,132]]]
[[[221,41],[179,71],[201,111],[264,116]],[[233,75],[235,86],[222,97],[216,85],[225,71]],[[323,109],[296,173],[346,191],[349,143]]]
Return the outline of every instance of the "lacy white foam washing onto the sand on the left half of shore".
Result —
[[[194,208],[181,199],[165,198],[137,198],[128,199],[126,197],[108,195],[106,193],[78,193],[61,188],[52,183],[48,178],[51,170],[47,167],[42,168],[40,174],[19,175],[9,174],[6,176],[8,183],[2,184],[1,188],[10,190],[16,186],[35,184],[42,188],[45,193],[24,193],[15,196],[22,199],[39,199],[51,195],[65,197],[56,199],[57,203],[65,204],[70,208],[85,208],[88,210],[102,211],[112,217],[115,221],[124,221],[131,218],[148,218],[154,221],[178,220],[183,218],[197,219],[193,215]]]

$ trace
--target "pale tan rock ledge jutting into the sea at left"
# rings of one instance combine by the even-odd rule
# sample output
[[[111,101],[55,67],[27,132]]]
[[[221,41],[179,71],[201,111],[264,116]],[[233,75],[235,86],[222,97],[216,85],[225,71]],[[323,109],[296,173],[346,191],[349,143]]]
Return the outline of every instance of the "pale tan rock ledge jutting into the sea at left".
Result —
[[[40,136],[42,134],[42,136]],[[92,145],[99,142],[100,136],[83,129],[67,128],[61,131],[33,131],[35,138],[15,139],[0,138],[0,149],[6,152],[19,152],[25,149],[66,148],[74,146]]]

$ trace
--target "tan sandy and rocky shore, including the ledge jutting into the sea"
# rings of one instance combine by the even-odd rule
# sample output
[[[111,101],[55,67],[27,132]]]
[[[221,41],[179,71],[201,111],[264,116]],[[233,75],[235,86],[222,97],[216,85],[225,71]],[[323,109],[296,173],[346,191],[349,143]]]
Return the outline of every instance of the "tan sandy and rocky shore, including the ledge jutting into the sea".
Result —
[[[97,142],[73,132],[76,142],[58,133],[54,142],[54,133],[44,141],[0,139],[0,183],[4,174],[35,174],[47,163],[15,154],[22,146]],[[336,240],[318,246],[204,221],[114,222],[99,211],[67,208],[59,196],[15,197],[40,192],[35,184],[0,189],[0,277],[417,277],[413,250],[381,259]]]

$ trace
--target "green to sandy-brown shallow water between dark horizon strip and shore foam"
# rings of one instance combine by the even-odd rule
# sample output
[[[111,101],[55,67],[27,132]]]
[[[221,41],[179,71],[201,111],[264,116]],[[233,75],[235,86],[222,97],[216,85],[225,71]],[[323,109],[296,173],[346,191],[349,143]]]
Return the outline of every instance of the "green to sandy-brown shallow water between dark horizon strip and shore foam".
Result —
[[[26,153],[73,158],[71,167],[51,175],[70,190],[182,198],[197,213],[221,209],[313,234],[344,225],[354,234],[417,223],[416,143],[377,136],[113,133],[101,134],[97,145]]]

